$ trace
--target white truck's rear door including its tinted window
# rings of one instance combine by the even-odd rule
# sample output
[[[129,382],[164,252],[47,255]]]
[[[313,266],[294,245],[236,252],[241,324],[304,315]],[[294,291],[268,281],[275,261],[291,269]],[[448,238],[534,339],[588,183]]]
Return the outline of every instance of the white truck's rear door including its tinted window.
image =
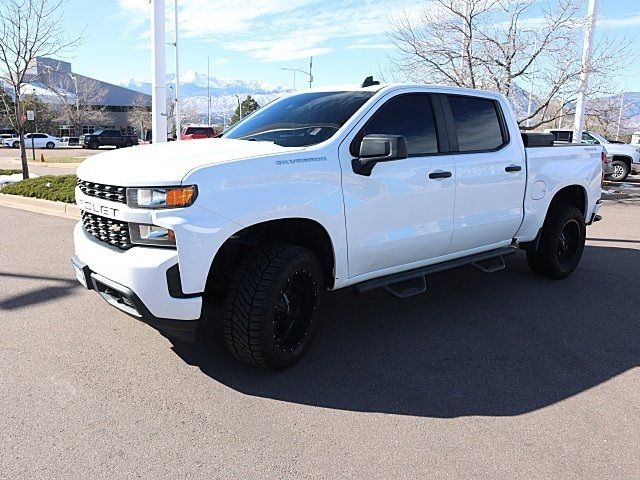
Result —
[[[524,214],[526,161],[515,119],[493,98],[447,95],[456,151],[456,206],[449,253],[508,244]],[[509,125],[513,125],[509,130]]]

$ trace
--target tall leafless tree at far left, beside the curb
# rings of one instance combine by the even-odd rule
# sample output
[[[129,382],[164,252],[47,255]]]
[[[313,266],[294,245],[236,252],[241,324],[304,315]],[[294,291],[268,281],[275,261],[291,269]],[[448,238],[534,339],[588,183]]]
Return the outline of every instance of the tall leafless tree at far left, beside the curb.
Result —
[[[23,178],[29,177],[29,167],[21,95],[30,80],[30,70],[37,57],[59,55],[81,41],[81,37],[71,38],[64,30],[63,4],[62,0],[3,0],[0,8],[0,81],[13,97],[13,105],[3,101],[3,107],[20,136]]]

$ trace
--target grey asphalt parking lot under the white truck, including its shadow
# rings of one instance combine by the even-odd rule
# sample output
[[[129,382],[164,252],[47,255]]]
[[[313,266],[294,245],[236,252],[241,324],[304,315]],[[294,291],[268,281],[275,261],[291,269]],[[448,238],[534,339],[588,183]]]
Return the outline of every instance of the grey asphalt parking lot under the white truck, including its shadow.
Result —
[[[0,207],[0,476],[640,478],[640,187],[609,188],[568,279],[335,292],[279,374],[112,309],[72,221]]]

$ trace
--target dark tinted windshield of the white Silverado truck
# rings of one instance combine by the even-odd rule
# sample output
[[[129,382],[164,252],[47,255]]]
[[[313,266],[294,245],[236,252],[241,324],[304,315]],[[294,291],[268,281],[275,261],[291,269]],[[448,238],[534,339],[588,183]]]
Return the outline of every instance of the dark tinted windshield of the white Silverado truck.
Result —
[[[330,138],[375,92],[310,92],[277,100],[224,138],[306,147]]]

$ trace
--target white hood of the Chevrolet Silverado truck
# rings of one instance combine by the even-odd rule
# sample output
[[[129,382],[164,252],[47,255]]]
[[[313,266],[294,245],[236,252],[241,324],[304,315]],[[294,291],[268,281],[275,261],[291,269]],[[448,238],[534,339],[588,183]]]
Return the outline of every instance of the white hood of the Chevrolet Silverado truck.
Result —
[[[180,183],[198,167],[300,150],[304,148],[225,138],[158,143],[94,155],[80,164],[77,174],[82,180],[106,185],[161,187]]]

